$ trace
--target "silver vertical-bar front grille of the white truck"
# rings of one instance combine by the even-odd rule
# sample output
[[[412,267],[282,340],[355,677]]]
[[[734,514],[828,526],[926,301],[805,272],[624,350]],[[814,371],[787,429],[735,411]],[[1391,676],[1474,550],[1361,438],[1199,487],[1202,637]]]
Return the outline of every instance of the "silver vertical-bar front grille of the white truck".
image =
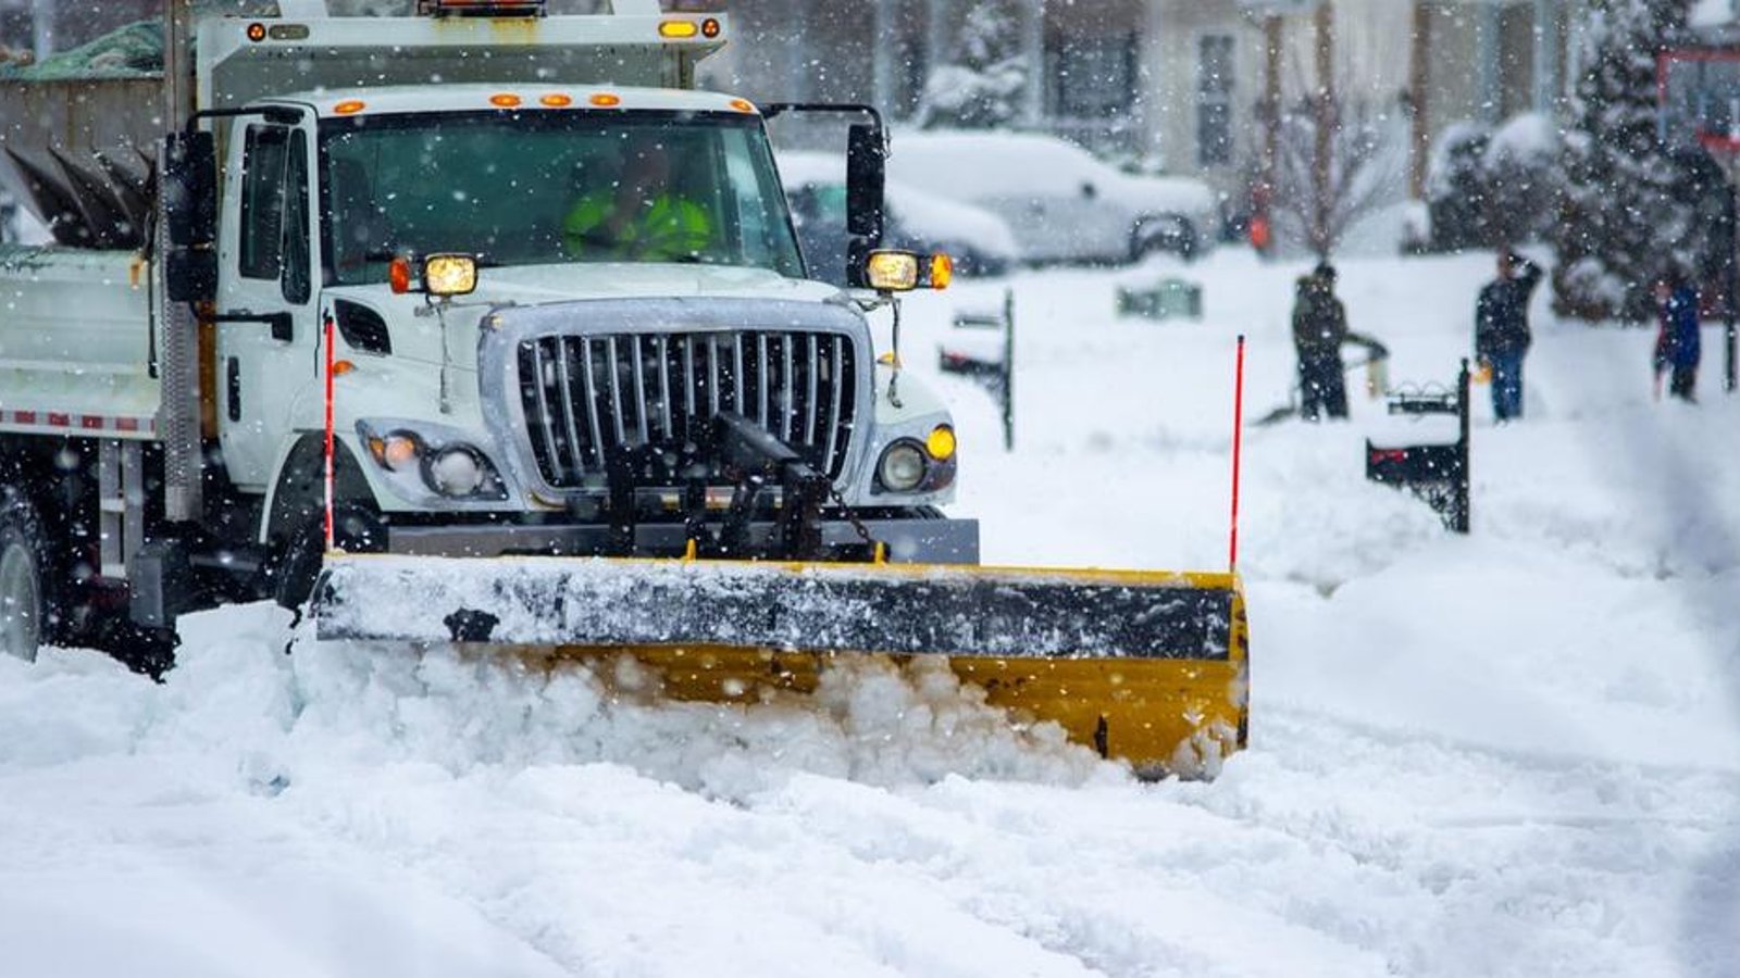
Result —
[[[520,405],[552,489],[597,486],[616,445],[682,447],[736,411],[837,479],[856,405],[839,332],[538,336],[519,345]]]

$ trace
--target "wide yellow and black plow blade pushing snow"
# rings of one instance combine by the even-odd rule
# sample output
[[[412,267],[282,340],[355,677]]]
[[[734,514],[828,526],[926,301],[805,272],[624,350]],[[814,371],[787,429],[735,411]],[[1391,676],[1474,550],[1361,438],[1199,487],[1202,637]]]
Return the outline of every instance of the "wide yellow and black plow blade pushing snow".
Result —
[[[612,557],[325,559],[317,637],[630,654],[673,700],[809,693],[830,660],[947,656],[1018,720],[1140,774],[1213,776],[1246,743],[1234,574]]]

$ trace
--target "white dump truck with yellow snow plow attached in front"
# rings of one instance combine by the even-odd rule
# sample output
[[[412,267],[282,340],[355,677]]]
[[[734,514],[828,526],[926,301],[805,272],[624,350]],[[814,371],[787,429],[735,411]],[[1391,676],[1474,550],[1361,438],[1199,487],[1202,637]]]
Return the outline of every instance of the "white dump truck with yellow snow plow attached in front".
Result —
[[[0,649],[160,675],[181,616],[275,599],[748,707],[947,656],[1140,773],[1244,747],[1237,578],[983,567],[940,510],[898,303],[950,268],[880,247],[873,110],[698,90],[729,19],[656,0],[278,7],[0,75],[54,238],[0,245]],[[846,289],[806,275],[781,113],[847,124]]]

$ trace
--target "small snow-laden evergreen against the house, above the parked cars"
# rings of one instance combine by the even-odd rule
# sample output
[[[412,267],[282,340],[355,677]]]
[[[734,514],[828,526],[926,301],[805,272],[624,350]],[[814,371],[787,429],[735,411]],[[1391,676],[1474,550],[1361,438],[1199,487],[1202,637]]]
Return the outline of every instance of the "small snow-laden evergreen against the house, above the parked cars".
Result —
[[[1021,113],[1032,66],[1021,52],[1016,0],[985,0],[967,10],[954,61],[924,82],[914,117],[924,129],[997,129]]]

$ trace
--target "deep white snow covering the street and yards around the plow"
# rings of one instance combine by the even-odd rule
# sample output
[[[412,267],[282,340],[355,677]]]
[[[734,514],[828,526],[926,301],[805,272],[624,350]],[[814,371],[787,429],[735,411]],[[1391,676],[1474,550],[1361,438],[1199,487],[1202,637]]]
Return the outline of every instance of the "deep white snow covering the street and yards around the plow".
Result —
[[[1481,256],[1343,266],[1390,379],[1448,383]],[[1284,402],[1298,265],[1014,280],[1018,449],[940,378],[988,562],[1225,562],[1234,336]],[[907,360],[1000,285],[917,298]],[[1477,402],[1474,534],[1369,486],[1389,425],[1248,430],[1251,750],[1131,781],[947,672],[823,710],[612,701],[197,616],[162,687],[0,660],[0,975],[1740,973],[1740,402],[1651,404],[1650,331],[1547,318]],[[1719,350],[1716,331],[1707,350]],[[1357,386],[1357,385],[1355,385]],[[1484,390],[1477,390],[1477,397]]]

